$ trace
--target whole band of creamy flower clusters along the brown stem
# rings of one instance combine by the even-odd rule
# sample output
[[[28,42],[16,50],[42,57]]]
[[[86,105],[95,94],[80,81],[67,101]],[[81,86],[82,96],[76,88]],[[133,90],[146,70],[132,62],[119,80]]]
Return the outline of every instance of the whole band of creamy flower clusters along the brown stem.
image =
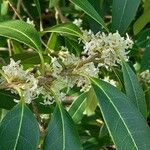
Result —
[[[62,101],[75,86],[86,92],[91,88],[88,77],[98,78],[101,66],[108,68],[128,58],[127,50],[133,45],[128,35],[124,38],[118,32],[94,34],[91,30],[82,29],[82,20],[75,20],[74,24],[83,32],[84,46],[80,57],[61,47],[57,55],[50,56],[51,63],[45,63],[45,74],[36,78],[29,70],[23,70],[20,61],[10,59],[10,64],[2,67],[0,82],[7,82],[8,88],[22,96],[26,103],[41,95],[43,104],[50,105],[54,102],[54,92]],[[109,77],[104,80],[116,86],[116,82]]]

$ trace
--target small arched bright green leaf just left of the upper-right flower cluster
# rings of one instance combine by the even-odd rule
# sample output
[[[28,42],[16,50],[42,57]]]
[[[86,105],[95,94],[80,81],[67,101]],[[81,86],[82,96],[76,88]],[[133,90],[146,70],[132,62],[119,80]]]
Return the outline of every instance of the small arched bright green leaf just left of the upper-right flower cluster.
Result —
[[[82,37],[81,30],[75,24],[72,23],[59,24],[43,31],[43,33],[48,33],[48,32],[55,32],[59,34],[67,34],[67,35]]]

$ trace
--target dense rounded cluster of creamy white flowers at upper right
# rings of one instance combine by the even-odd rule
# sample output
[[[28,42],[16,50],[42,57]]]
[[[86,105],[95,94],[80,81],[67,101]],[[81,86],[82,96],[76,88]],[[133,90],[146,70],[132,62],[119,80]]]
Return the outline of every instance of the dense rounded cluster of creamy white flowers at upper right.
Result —
[[[84,32],[84,36],[88,37],[83,40],[84,54],[89,56],[99,53],[101,64],[105,66],[115,66],[121,59],[128,59],[128,49],[132,48],[133,41],[126,34],[126,38],[116,33],[98,32],[94,34],[90,31]],[[86,35],[87,34],[87,35]]]

